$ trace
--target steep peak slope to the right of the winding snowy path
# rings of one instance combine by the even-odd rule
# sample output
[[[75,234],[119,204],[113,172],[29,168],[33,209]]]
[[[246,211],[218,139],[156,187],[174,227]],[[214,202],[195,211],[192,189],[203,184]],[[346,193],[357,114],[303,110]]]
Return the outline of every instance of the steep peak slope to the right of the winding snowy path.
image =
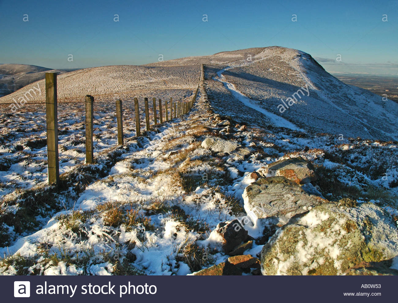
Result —
[[[229,69],[224,76],[261,107],[307,130],[398,138],[398,104],[345,85],[302,51],[267,47],[252,63]]]

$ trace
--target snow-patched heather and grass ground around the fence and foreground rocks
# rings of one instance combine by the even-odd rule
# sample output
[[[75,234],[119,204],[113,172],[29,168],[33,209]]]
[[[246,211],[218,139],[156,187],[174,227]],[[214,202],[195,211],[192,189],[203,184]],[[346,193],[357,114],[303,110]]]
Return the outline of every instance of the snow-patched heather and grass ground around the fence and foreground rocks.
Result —
[[[84,127],[77,124],[84,118],[82,105],[61,104],[60,130],[64,133],[60,134],[63,175],[59,191],[45,185],[45,144],[36,141],[45,138],[43,110],[32,104],[24,112],[3,114],[7,129],[1,151],[0,253],[7,258],[0,261],[0,273],[185,275],[218,264],[226,255],[211,231],[220,222],[247,215],[242,193],[254,182],[253,171],[289,156],[301,156],[315,165],[321,176],[316,185],[326,199],[369,201],[396,218],[397,143],[349,138],[336,132],[302,132],[289,128],[291,124],[282,120],[289,120],[287,117],[273,124],[267,114],[272,113],[271,108],[255,110],[251,102],[256,98],[242,99],[242,86],[228,76],[230,70],[222,72],[226,66],[240,68],[242,57],[251,51],[221,53],[218,61],[201,58],[222,64],[205,65],[194,108],[186,116],[152,127],[142,138],[134,136],[133,108],[126,103],[123,147],[115,146],[116,123],[110,114],[113,93],[103,91],[96,98],[101,105],[95,116],[94,165],[84,164]],[[261,53],[261,49],[255,51]],[[166,74],[169,68],[183,71],[183,67],[166,66],[178,61],[161,64],[165,66],[154,65]],[[146,68],[154,67],[143,70]],[[187,69],[197,81],[200,65]],[[226,76],[225,83],[214,78],[217,73],[221,79]],[[313,81],[295,73],[289,77],[297,86]],[[197,83],[193,76],[184,81],[189,83],[170,90],[162,88],[161,81],[154,82],[160,83],[162,98],[172,95],[176,100],[176,96],[189,97]],[[227,83],[234,83],[239,96],[224,85]],[[152,85],[145,85],[144,92],[150,97]],[[123,100],[136,95],[135,91],[118,93]],[[292,108],[295,106],[298,104]],[[19,134],[11,135],[17,128],[21,128]],[[30,131],[35,137],[28,137]],[[242,149],[211,152],[201,147],[209,137],[234,142]],[[36,152],[41,153],[32,155]],[[23,156],[27,159],[21,160]],[[259,256],[271,235],[265,237],[261,225],[245,228],[254,238],[245,254]]]

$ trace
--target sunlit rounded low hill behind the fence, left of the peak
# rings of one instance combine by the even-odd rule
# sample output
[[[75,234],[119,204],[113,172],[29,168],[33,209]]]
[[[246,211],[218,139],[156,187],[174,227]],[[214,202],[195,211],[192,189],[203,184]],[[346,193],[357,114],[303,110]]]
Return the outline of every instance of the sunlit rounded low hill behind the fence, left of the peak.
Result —
[[[82,98],[86,94],[93,96],[112,95],[129,92],[133,96],[143,96],[143,93],[156,92],[154,95],[161,97],[159,90],[192,91],[197,85],[199,66],[181,67],[145,67],[136,65],[111,65],[79,69],[57,77],[58,100]],[[45,100],[45,80],[37,81],[22,89],[0,98],[0,103],[18,100],[20,96],[33,87],[41,88],[41,94],[29,96],[29,102]],[[110,98],[110,100],[113,100]]]

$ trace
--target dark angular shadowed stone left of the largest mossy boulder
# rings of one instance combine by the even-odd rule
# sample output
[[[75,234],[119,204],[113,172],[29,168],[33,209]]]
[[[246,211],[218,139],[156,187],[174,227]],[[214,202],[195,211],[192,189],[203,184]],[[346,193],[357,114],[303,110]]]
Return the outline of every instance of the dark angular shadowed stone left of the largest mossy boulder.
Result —
[[[226,254],[248,238],[247,230],[236,219],[219,223],[215,230],[223,239],[222,250]]]

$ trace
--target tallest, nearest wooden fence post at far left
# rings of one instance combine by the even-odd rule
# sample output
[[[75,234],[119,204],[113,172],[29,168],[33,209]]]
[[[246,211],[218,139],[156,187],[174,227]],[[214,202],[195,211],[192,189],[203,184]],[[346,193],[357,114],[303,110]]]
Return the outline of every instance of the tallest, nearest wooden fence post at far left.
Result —
[[[47,171],[49,184],[59,185],[57,73],[46,73]]]

